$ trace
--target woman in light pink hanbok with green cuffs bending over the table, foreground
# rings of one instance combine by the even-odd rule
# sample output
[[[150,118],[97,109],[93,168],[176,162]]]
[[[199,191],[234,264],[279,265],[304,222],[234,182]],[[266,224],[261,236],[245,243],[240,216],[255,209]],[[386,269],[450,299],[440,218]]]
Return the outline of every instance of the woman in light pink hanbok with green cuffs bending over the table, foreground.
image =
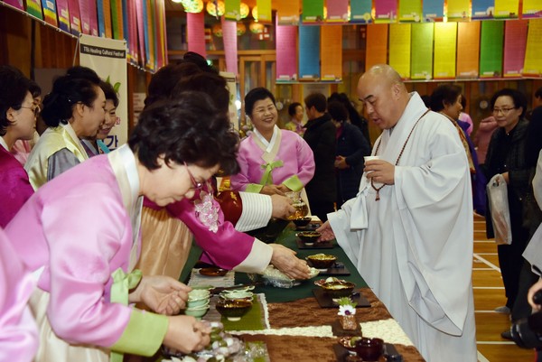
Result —
[[[188,353],[209,328],[176,315],[190,288],[141,276],[143,197],[158,206],[192,198],[219,168],[236,172],[237,137],[211,98],[186,92],[145,109],[128,144],[47,182],[6,233],[38,279],[31,299],[40,329],[36,361],[121,361],[165,345]],[[128,303],[144,302],[152,311]]]

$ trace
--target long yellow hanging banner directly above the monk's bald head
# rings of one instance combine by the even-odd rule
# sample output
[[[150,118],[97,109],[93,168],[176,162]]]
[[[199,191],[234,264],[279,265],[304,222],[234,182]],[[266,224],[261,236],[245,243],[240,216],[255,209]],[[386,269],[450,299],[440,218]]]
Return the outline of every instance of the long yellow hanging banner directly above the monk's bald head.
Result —
[[[409,23],[389,24],[389,61],[402,79],[410,79],[410,29]]]

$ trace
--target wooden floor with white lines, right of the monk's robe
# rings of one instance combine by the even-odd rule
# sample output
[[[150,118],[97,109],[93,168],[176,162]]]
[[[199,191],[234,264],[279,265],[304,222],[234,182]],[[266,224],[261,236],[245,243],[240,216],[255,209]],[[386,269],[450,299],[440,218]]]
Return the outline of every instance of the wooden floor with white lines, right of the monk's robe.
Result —
[[[485,237],[485,221],[474,218],[474,258],[472,287],[476,319],[476,343],[480,362],[532,362],[533,351],[517,347],[514,342],[500,338],[509,329],[507,314],[493,311],[505,304],[504,287],[500,277],[497,245]]]

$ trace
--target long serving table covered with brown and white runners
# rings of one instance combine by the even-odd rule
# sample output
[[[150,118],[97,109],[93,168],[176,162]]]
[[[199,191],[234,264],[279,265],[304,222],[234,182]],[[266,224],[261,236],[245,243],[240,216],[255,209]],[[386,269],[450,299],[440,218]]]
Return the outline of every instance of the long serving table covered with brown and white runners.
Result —
[[[356,318],[361,323],[362,332],[366,328],[369,330],[370,327],[373,337],[383,337],[386,342],[394,343],[389,339],[397,336],[387,335],[386,330],[378,329],[386,328],[387,325],[395,325],[395,331],[391,333],[396,335],[397,329],[400,333],[403,333],[402,330],[398,327],[397,322],[392,319],[384,304],[378,301],[376,295],[367,286],[367,283],[365,283],[341,247],[335,245],[331,249],[300,249],[297,247],[295,239],[294,225],[291,224],[277,237],[276,243],[295,250],[300,258],[318,253],[336,255],[338,261],[341,261],[350,271],[350,275],[341,276],[340,278],[356,283],[357,289],[370,302],[370,308],[357,309]],[[313,280],[318,278],[316,277]],[[329,327],[334,321],[338,320],[337,309],[320,307],[313,297],[313,289],[315,288],[313,280],[306,281],[291,289],[257,285],[254,292],[265,293],[266,295],[271,330],[253,331],[249,334],[241,332],[242,338],[248,341],[264,341],[271,361],[337,361],[333,346],[337,345],[339,338],[332,337],[330,333],[331,327]],[[252,281],[247,274],[236,273],[235,282],[251,283]],[[405,339],[407,338],[405,337]],[[403,356],[404,361],[424,361],[424,358],[414,346],[397,343],[394,343],[394,345]]]

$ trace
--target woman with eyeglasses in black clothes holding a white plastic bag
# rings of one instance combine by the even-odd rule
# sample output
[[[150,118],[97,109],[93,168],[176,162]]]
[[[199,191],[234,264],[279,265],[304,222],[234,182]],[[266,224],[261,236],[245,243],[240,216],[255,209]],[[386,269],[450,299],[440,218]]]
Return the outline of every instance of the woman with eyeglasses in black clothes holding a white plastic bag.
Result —
[[[528,242],[528,229],[522,226],[522,200],[528,190],[529,176],[525,153],[528,121],[524,119],[527,99],[516,89],[504,88],[491,97],[491,108],[499,128],[491,136],[483,168],[488,180],[500,173],[508,186],[512,244],[498,246],[507,298],[506,305],[498,311],[510,312],[518,294],[521,254]],[[493,237],[491,218],[487,218],[486,225],[488,237]]]

